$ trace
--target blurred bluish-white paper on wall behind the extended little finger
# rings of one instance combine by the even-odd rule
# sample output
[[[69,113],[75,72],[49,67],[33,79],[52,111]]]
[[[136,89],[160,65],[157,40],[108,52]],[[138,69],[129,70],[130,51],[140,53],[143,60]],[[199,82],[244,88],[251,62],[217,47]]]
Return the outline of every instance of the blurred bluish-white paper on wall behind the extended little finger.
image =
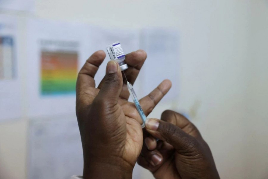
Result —
[[[178,33],[166,29],[141,30],[141,49],[147,52],[142,69],[143,95],[149,94],[164,79],[172,81],[172,88],[161,101],[172,101],[179,95]]]

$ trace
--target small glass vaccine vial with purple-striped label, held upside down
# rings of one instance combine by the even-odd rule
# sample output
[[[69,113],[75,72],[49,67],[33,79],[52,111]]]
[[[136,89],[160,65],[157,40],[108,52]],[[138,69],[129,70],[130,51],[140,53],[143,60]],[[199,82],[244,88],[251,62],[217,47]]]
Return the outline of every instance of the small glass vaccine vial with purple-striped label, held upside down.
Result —
[[[106,49],[110,56],[110,59],[115,60],[119,64],[121,71],[128,69],[128,66],[124,61],[125,54],[119,41],[107,45]]]

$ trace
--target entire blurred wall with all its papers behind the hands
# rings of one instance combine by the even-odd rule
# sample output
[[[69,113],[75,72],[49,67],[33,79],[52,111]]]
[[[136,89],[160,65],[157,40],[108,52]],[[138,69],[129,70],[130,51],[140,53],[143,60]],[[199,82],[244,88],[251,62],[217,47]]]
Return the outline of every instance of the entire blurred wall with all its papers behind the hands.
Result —
[[[0,0],[1,179],[82,175],[76,75],[115,41],[148,53],[139,98],[173,83],[149,117],[187,115],[221,178],[267,178],[267,0]]]

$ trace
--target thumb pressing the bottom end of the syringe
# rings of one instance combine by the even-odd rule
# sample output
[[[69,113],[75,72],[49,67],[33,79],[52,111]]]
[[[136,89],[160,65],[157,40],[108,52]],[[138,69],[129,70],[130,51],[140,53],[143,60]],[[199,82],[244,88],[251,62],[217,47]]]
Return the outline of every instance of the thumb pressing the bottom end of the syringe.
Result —
[[[194,137],[169,122],[149,118],[146,120],[146,130],[155,138],[171,144],[177,151],[189,151],[198,146]]]

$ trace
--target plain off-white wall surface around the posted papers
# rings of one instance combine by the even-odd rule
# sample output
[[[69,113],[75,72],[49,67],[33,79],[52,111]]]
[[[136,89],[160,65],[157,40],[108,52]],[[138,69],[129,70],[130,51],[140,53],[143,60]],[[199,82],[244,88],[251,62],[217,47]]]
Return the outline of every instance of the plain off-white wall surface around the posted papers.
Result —
[[[36,0],[33,14],[4,13],[104,27],[176,28],[180,97],[150,116],[167,108],[188,112],[222,178],[267,177],[267,1]],[[0,178],[26,178],[27,123],[0,124]],[[143,178],[152,176],[144,171]]]

